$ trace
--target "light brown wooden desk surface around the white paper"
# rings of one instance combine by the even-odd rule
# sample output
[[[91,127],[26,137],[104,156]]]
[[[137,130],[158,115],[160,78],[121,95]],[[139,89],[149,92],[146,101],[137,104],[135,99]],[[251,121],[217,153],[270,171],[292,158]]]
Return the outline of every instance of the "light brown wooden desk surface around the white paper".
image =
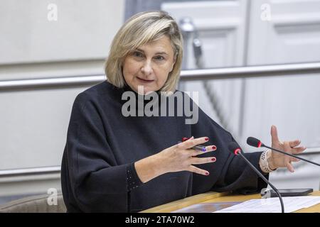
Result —
[[[320,191],[313,192],[310,196],[320,196]],[[232,201],[246,201],[249,199],[260,199],[260,194],[252,195],[233,195],[228,193],[207,192],[203,194],[197,194],[196,196],[190,196],[186,199],[180,199],[173,201],[169,204],[156,206],[151,209],[146,209],[142,213],[168,213],[182,209],[186,206],[202,203],[218,203],[218,202],[232,202]],[[320,212],[320,204],[310,206],[309,208],[300,209],[294,211],[294,213],[314,213]]]

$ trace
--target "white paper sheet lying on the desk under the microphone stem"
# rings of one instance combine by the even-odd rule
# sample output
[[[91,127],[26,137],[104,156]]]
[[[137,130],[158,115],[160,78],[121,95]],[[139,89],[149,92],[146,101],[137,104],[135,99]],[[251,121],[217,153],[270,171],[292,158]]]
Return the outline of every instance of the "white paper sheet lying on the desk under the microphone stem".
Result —
[[[290,213],[302,208],[320,204],[320,196],[290,196],[282,197],[284,212]],[[241,204],[230,206],[214,213],[280,213],[281,204],[279,198],[250,199]]]

